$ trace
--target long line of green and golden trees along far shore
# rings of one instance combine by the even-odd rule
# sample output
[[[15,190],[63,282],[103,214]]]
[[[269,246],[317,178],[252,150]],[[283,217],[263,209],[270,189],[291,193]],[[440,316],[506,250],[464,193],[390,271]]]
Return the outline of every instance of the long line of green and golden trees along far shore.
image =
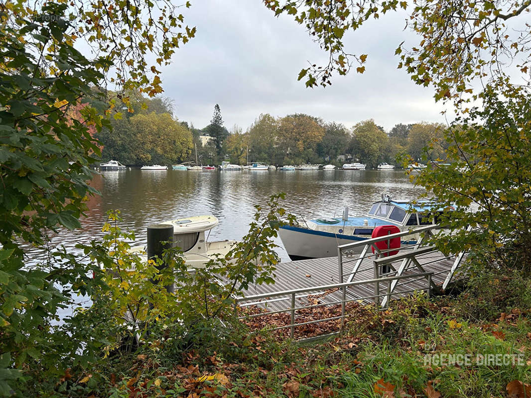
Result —
[[[123,99],[115,99],[123,103]],[[261,114],[244,133],[238,125],[224,126],[215,106],[211,123],[201,129],[179,121],[173,101],[165,97],[145,98],[129,94],[127,106],[116,106],[112,131],[103,129],[96,138],[103,146],[102,159],[125,165],[193,162],[219,165],[222,160],[245,165],[272,165],[359,161],[367,167],[393,163],[398,155],[419,159],[423,148],[432,146],[433,159],[444,156],[443,126],[438,123],[396,124],[388,133],[373,119],[352,128],[319,117],[292,114],[273,117]],[[210,136],[201,140],[200,136]]]

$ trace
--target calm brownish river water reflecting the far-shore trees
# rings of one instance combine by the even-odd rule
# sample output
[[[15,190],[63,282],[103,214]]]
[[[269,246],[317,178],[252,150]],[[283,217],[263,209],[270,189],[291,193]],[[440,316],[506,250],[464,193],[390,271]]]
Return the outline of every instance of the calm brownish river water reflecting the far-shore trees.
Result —
[[[209,240],[240,239],[249,229],[254,204],[285,192],[282,202],[288,211],[306,217],[339,215],[344,206],[350,215],[363,216],[380,194],[412,199],[422,193],[414,188],[404,171],[315,170],[315,171],[181,171],[140,170],[102,171],[92,185],[101,196],[91,198],[83,228],[64,231],[54,244],[73,248],[102,236],[106,211],[122,213],[122,229],[133,230],[136,243],[144,243],[148,224],[191,215],[213,214],[219,219]],[[276,244],[282,261],[289,257],[280,239]],[[32,257],[40,256],[37,250]]]

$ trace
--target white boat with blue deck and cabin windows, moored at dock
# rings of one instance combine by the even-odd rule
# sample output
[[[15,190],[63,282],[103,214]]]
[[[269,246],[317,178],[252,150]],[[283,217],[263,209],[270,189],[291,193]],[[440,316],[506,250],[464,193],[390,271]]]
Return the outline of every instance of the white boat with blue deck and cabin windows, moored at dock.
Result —
[[[409,207],[408,201],[393,201],[389,195],[382,195],[382,200],[372,205],[367,217],[348,217],[346,208],[343,217],[297,220],[296,225],[280,227],[278,235],[293,260],[337,256],[339,245],[370,239],[376,227],[393,225],[405,231],[435,223],[419,214],[431,210],[429,204],[415,205],[417,212],[410,212]]]

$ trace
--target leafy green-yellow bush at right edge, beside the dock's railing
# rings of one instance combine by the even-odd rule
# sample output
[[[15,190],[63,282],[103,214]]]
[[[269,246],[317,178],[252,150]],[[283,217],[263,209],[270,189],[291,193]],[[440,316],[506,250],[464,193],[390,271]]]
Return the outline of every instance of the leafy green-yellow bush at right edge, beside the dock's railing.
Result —
[[[447,166],[410,177],[427,189],[452,233],[435,243],[445,252],[496,253],[507,266],[531,271],[531,101],[523,88],[488,87],[475,107],[447,129]],[[427,160],[425,157],[424,160]],[[468,230],[471,227],[472,230]],[[506,253],[506,254],[504,254]],[[510,258],[516,259],[510,265]],[[485,262],[499,266],[500,262]]]

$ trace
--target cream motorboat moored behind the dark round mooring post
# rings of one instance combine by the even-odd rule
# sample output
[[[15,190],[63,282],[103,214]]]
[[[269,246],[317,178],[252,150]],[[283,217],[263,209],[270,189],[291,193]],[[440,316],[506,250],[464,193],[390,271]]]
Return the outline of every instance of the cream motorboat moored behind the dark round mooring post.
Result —
[[[178,220],[165,221],[161,224],[173,226],[173,247],[178,247],[183,251],[186,265],[194,268],[202,268],[204,264],[216,256],[225,256],[237,243],[236,240],[219,240],[208,242],[205,232],[217,226],[218,219],[213,215],[196,215],[194,217],[182,218]],[[134,246],[132,253],[140,253],[145,256],[147,247]]]

